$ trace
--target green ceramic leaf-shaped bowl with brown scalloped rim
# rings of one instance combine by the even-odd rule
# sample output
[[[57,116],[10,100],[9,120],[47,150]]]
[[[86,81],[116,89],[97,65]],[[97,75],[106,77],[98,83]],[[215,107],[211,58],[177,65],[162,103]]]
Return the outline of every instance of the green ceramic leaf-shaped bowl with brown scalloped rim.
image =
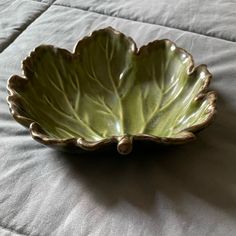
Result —
[[[207,67],[194,67],[167,39],[137,49],[109,27],[83,38],[73,53],[39,46],[22,69],[8,81],[10,112],[35,140],[60,149],[117,143],[127,154],[133,140],[182,144],[215,113]]]

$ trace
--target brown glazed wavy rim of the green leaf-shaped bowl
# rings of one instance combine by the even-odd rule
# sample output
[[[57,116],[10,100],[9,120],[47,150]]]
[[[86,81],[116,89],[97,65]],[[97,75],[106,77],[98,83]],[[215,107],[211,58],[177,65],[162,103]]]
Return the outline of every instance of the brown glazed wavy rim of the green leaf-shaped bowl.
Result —
[[[174,45],[176,47],[175,50],[178,51],[178,53],[187,55],[190,60],[190,66],[188,67],[188,70],[187,70],[188,75],[193,74],[199,67],[205,68],[206,81],[205,81],[204,85],[202,86],[198,95],[195,97],[195,100],[200,101],[201,99],[205,99],[205,98],[208,99],[208,101],[210,103],[210,106],[208,109],[208,112],[209,112],[208,119],[205,120],[201,124],[189,127],[185,130],[182,130],[178,134],[178,136],[174,137],[174,138],[158,137],[158,136],[148,135],[148,134],[111,136],[109,138],[101,139],[100,141],[87,141],[81,137],[70,138],[70,139],[50,138],[43,131],[43,129],[40,127],[40,125],[36,121],[20,114],[21,112],[19,109],[19,98],[16,96],[16,92],[14,90],[14,87],[21,88],[24,85],[24,83],[28,79],[30,79],[29,76],[28,77],[25,76],[24,70],[28,66],[29,57],[32,55],[32,53],[36,53],[37,47],[34,49],[34,51],[32,51],[30,53],[30,55],[28,57],[26,57],[22,61],[22,74],[23,74],[23,76],[19,77],[17,75],[13,75],[12,77],[9,78],[9,80],[7,82],[7,90],[9,93],[9,96],[7,97],[7,102],[9,105],[10,113],[12,114],[14,119],[17,122],[19,122],[20,124],[28,127],[32,137],[36,141],[38,141],[42,144],[45,144],[48,146],[65,147],[65,148],[66,147],[67,148],[80,147],[80,148],[82,148],[84,150],[88,150],[88,151],[94,151],[94,150],[100,149],[104,146],[107,146],[109,144],[117,143],[118,152],[120,154],[128,154],[132,151],[133,140],[149,140],[149,141],[153,141],[153,142],[160,143],[160,144],[183,144],[183,143],[186,143],[186,142],[196,139],[196,136],[194,133],[207,127],[212,122],[214,115],[216,113],[216,93],[214,91],[210,91],[210,92],[208,91],[208,86],[209,86],[210,80],[212,78],[212,74],[208,71],[207,66],[204,64],[201,64],[201,65],[195,67],[192,55],[190,53],[188,53],[186,50],[184,50],[183,48],[177,47],[176,44],[174,42],[172,42],[171,40],[169,40],[169,39],[155,40],[153,42],[148,43],[147,45],[142,46],[140,49],[138,49],[135,41],[132,38],[125,36],[123,33],[113,29],[112,27],[107,27],[105,29],[93,31],[89,36],[86,36],[82,40],[80,40],[76,44],[76,46],[73,50],[74,51],[73,53],[67,51],[66,49],[56,48],[52,45],[41,45],[39,47],[46,47],[46,48],[53,47],[61,52],[63,51],[65,56],[75,57],[79,54],[79,52],[77,51],[78,46],[82,46],[82,45],[86,44],[88,38],[93,38],[100,31],[108,31],[108,32],[112,32],[115,34],[119,34],[121,37],[128,38],[128,40],[131,43],[133,43],[133,45],[135,46],[133,49],[133,53],[135,53],[136,55],[139,55],[140,51],[145,48],[148,48],[150,50],[150,48],[152,48],[156,44],[159,44],[160,42],[164,42],[165,44]]]

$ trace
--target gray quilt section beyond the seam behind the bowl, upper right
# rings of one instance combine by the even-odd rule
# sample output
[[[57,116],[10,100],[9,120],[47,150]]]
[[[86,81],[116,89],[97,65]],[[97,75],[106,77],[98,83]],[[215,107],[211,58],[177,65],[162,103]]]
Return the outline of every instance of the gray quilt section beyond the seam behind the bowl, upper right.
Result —
[[[55,4],[236,40],[234,0],[56,0]]]

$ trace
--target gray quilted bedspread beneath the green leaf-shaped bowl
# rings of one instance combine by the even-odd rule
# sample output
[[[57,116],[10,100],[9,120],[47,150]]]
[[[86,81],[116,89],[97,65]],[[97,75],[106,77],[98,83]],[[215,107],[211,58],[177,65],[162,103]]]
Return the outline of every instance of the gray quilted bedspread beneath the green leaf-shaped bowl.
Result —
[[[5,1],[0,4],[0,235],[236,235],[235,1]],[[6,82],[39,44],[73,50],[112,26],[138,46],[169,38],[213,73],[215,122],[188,145],[68,155],[10,116]]]

